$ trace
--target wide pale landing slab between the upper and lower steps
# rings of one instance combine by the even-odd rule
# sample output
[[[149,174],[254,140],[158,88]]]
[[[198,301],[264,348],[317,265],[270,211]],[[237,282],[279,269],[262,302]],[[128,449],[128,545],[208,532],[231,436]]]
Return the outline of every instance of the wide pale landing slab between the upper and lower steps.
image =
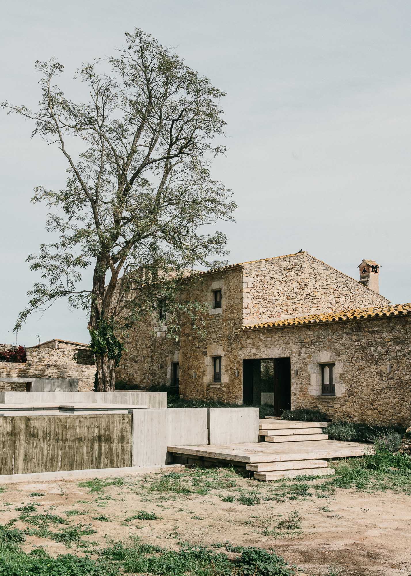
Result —
[[[305,442],[255,442],[253,444],[216,444],[201,446],[168,446],[168,451],[179,456],[197,456],[229,460],[243,464],[283,462],[324,458],[364,456],[374,451],[369,444],[340,442],[337,440]]]

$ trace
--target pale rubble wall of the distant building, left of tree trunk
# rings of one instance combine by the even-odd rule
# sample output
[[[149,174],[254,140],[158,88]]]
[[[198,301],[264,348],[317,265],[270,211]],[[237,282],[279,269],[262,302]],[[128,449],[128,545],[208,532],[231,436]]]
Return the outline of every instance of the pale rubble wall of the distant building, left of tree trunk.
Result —
[[[25,391],[24,382],[1,382],[1,378],[78,378],[79,392],[93,390],[96,366],[89,358],[73,359],[75,350],[26,348],[26,362],[0,362],[0,390]],[[87,363],[79,363],[87,362]]]

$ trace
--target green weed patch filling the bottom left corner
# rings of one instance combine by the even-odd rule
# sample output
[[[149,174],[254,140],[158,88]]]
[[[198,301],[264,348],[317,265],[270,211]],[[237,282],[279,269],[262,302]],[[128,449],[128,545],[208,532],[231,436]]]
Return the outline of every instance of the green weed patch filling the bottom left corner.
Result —
[[[1,576],[119,576],[115,564],[87,556],[60,555],[56,558],[41,549],[30,554],[18,548],[0,549]]]

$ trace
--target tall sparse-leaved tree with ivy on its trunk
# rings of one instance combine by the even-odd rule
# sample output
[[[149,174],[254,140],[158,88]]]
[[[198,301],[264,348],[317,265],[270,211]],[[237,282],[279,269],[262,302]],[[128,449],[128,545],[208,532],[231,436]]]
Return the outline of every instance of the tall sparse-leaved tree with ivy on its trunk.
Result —
[[[170,302],[185,268],[213,266],[210,260],[224,255],[224,234],[201,226],[232,219],[235,208],[231,191],[210,174],[212,158],[224,153],[214,142],[224,132],[224,92],[140,29],[125,36],[123,48],[104,61],[109,73],[100,60],[77,70],[87,103],[55,85],[63,72],[55,59],[36,62],[37,111],[2,103],[35,122],[33,135],[59,147],[68,172],[62,190],[35,188],[32,202],[50,207],[47,230],[59,239],[28,256],[41,282],[29,290],[14,329],[59,298],[89,310],[102,391],[115,388],[122,350],[116,330],[138,321],[158,298]],[[90,266],[93,282],[83,289],[82,271]],[[194,313],[189,303],[187,310]]]

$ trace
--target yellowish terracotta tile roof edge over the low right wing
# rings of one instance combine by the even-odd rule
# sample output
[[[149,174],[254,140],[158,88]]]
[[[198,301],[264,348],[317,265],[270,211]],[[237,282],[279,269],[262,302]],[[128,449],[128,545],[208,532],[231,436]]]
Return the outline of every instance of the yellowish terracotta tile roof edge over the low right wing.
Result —
[[[301,326],[307,324],[321,324],[345,320],[361,320],[364,318],[381,318],[387,316],[405,316],[411,314],[410,304],[391,304],[389,306],[372,306],[372,308],[353,308],[351,310],[338,310],[337,312],[324,312],[321,314],[309,314],[295,318],[284,318],[261,324],[250,324],[243,327],[244,330],[258,328],[280,328],[284,326]]]

